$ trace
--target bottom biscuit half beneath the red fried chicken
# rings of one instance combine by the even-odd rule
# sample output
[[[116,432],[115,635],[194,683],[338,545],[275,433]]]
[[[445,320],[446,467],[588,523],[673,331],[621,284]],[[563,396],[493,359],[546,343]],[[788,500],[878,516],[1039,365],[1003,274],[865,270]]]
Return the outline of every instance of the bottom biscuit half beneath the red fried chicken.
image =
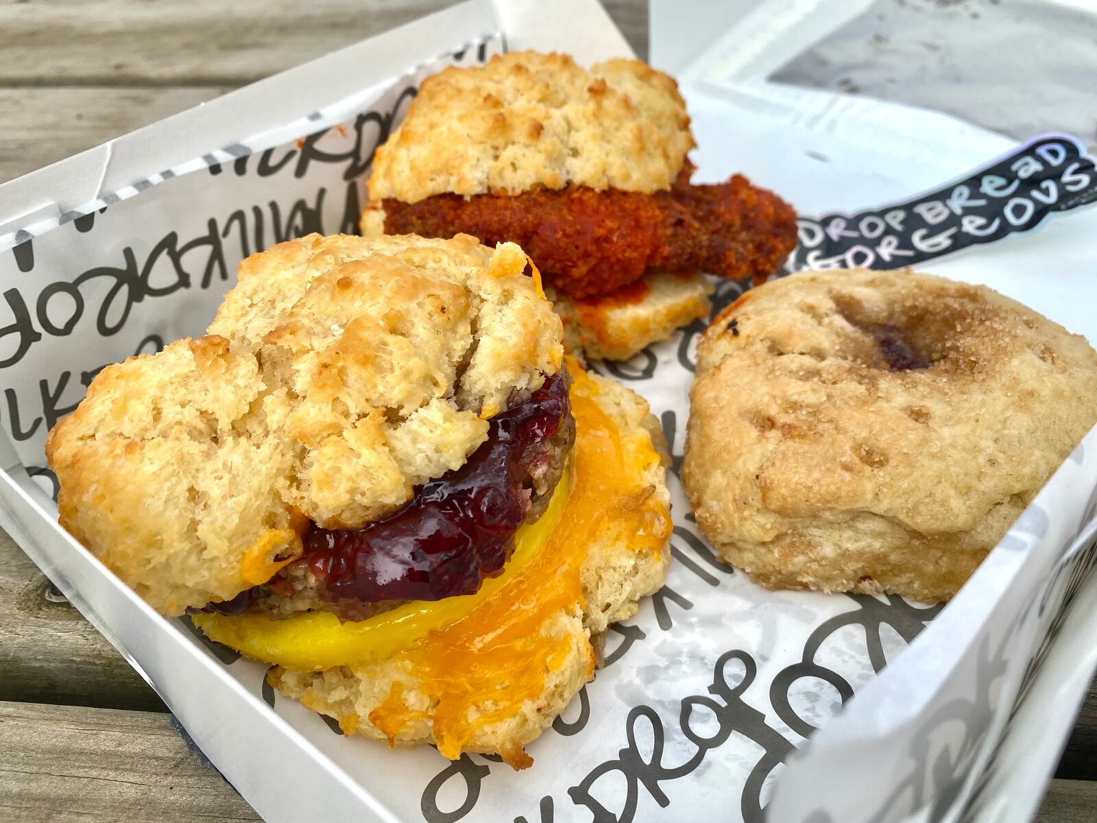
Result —
[[[603,297],[576,300],[545,289],[564,319],[564,343],[592,360],[627,360],[669,340],[682,326],[708,317],[714,286],[704,274],[657,272]]]

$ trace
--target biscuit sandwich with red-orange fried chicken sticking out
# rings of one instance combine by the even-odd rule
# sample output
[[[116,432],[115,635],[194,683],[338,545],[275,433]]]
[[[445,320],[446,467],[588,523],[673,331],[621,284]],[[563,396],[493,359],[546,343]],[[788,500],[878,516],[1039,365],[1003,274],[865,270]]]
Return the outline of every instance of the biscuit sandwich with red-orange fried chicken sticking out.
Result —
[[[702,272],[761,282],[795,213],[742,176],[694,184],[686,103],[638,60],[518,52],[427,78],[373,158],[364,235],[514,241],[570,350],[625,359],[710,311]]]

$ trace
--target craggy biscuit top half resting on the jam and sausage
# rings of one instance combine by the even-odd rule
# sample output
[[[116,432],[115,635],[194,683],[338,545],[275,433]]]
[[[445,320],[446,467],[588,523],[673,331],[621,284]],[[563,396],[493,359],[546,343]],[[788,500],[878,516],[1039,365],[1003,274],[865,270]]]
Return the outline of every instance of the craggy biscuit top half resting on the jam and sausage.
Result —
[[[248,258],[207,336],[108,367],[50,432],[61,523],[178,613],[262,583],[307,521],[384,517],[559,370],[561,322],[524,267],[466,235],[310,235]]]

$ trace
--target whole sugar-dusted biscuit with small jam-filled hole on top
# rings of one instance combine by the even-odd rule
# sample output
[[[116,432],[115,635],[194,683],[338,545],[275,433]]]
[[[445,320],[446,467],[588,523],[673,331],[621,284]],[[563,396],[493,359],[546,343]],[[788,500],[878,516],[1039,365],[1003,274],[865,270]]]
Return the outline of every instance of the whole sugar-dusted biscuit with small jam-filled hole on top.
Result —
[[[1097,422],[1097,353],[983,286],[807,272],[716,318],[690,397],[682,481],[726,561],[935,601]]]

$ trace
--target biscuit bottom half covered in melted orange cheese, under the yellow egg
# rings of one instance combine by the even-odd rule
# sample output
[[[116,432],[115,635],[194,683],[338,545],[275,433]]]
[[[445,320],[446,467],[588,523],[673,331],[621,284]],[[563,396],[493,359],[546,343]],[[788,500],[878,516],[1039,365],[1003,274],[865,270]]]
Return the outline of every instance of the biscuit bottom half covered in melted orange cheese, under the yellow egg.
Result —
[[[657,421],[613,381],[578,373],[577,385],[570,508],[541,565],[524,573],[528,584],[508,566],[504,588],[479,612],[383,659],[317,672],[280,666],[270,679],[282,694],[336,718],[347,733],[433,743],[451,758],[483,752],[514,767],[530,763],[523,747],[593,677],[591,635],[632,617],[670,562]],[[604,453],[614,438],[622,453]],[[196,621],[217,640],[239,640],[219,633],[231,631],[233,618]],[[479,640],[485,632],[490,642]]]

